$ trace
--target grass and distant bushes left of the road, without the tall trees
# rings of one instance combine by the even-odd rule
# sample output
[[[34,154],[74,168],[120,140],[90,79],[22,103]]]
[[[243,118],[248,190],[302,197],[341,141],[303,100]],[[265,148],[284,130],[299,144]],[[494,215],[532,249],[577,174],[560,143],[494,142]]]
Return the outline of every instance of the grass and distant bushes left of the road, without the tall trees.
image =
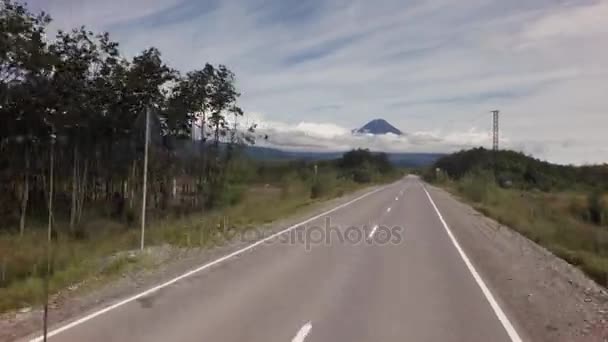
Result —
[[[210,248],[231,237],[262,227],[281,217],[312,210],[323,200],[366,185],[389,182],[402,175],[390,164],[376,163],[382,155],[355,151],[364,158],[347,162],[264,162],[239,158],[229,186],[218,205],[182,212],[179,208],[156,213],[148,225],[148,246]],[[237,166],[238,165],[238,166]],[[316,165],[316,167],[315,167]],[[352,172],[365,165],[369,182],[357,182]],[[316,169],[316,172],[315,172]],[[153,212],[154,213],[154,212]],[[46,273],[46,231],[31,225],[25,234],[0,233],[0,312],[43,301]],[[80,225],[83,234],[69,232],[67,218],[55,225],[50,292],[84,282],[86,288],[106,282],[129,270],[153,267],[159,261],[146,253],[130,255],[139,242],[137,222],[131,224],[113,213],[91,212]]]

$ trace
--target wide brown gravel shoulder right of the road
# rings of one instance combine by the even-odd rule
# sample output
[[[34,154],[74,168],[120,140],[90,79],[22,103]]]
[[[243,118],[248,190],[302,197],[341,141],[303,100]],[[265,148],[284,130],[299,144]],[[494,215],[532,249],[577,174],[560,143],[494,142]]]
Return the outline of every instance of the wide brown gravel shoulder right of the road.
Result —
[[[447,191],[426,186],[522,338],[547,342],[608,341],[606,288]]]

